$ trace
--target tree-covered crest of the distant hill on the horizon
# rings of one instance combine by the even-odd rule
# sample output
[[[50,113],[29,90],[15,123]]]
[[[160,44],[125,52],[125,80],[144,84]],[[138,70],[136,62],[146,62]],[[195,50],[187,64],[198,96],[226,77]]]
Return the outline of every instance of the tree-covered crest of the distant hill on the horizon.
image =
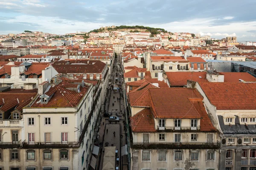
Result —
[[[111,30],[122,30],[122,29],[133,29],[134,31],[131,30],[131,32],[140,32],[136,29],[145,29],[145,31],[151,32],[151,34],[159,34],[161,31],[167,33],[167,31],[163,28],[153,28],[153,27],[145,27],[145,26],[116,26],[115,28],[108,28],[108,31]],[[102,32],[105,29],[99,28],[99,29],[94,29],[90,32]],[[89,33],[90,33],[89,32]]]

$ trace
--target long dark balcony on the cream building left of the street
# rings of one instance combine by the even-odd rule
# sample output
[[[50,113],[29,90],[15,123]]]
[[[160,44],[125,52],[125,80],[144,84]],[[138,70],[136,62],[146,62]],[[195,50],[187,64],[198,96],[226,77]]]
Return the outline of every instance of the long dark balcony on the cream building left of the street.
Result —
[[[24,149],[79,147],[78,142],[22,142]]]

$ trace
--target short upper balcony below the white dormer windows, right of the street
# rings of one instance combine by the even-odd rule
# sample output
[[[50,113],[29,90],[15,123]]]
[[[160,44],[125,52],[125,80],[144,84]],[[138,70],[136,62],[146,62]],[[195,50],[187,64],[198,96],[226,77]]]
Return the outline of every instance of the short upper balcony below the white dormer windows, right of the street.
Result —
[[[198,127],[159,127],[157,126],[157,132],[198,132],[200,131],[200,126]]]

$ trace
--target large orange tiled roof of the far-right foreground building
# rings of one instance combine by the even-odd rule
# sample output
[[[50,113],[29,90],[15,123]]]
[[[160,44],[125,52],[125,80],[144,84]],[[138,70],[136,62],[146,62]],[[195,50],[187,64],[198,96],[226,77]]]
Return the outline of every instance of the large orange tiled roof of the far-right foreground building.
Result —
[[[256,83],[199,82],[217,110],[256,110]]]

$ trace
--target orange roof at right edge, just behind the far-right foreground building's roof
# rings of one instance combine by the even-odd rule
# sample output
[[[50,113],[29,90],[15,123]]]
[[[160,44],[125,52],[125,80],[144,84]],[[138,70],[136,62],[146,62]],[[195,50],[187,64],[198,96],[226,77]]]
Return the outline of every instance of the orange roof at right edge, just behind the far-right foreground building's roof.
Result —
[[[256,82],[256,77],[247,72],[221,72],[224,74],[224,82],[240,82],[239,79],[245,82]]]

